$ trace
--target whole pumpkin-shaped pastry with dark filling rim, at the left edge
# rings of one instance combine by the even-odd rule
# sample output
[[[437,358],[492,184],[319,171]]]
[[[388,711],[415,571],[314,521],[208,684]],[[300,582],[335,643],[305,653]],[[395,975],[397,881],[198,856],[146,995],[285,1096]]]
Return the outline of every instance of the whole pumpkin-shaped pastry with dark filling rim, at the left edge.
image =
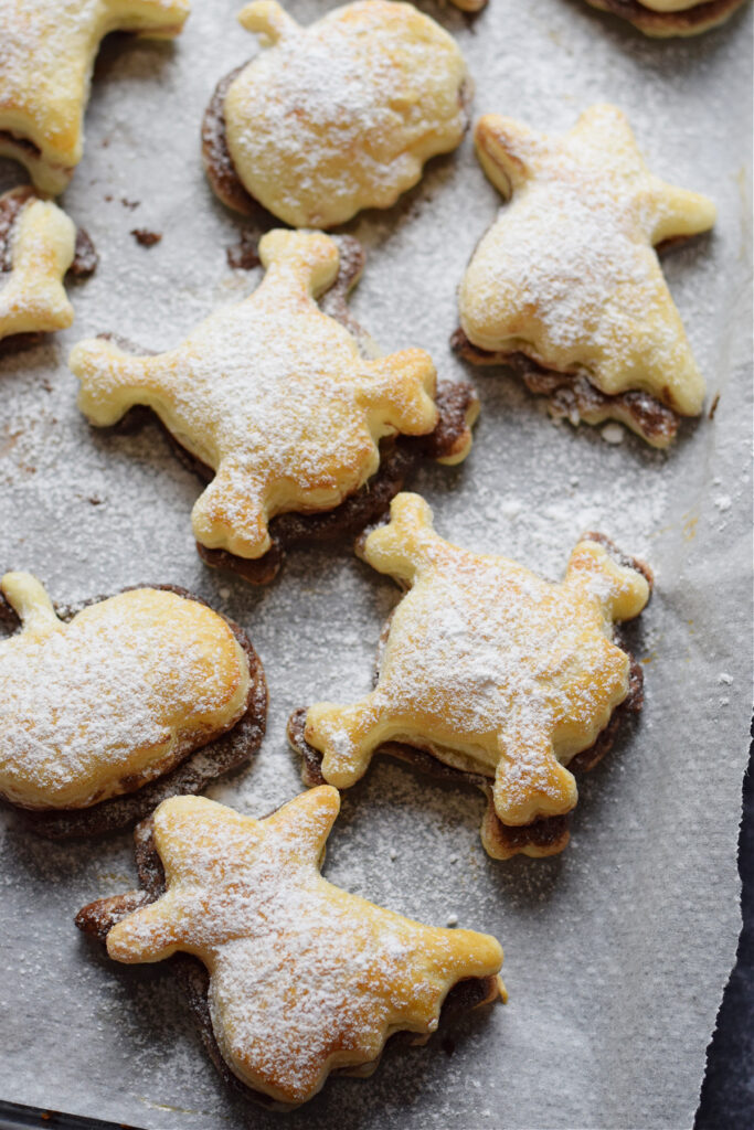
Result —
[[[0,643],[0,796],[37,831],[129,823],[259,745],[261,664],[196,598],[131,589],[64,621],[28,573],[6,573],[0,593],[21,621]],[[201,766],[187,763],[198,749]]]

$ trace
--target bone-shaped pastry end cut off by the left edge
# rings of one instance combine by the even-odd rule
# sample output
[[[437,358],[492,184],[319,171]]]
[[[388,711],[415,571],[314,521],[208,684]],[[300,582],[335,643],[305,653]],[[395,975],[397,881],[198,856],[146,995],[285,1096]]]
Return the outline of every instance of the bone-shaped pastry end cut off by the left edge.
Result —
[[[88,275],[96,253],[86,235],[33,189],[0,197],[0,339],[32,344],[73,321],[63,278]]]

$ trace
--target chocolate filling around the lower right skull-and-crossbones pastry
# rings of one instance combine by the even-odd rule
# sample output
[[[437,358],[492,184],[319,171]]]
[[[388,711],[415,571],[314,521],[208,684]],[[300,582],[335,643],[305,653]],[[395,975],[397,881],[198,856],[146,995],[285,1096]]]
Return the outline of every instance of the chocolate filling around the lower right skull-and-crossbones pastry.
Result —
[[[633,568],[638,573],[641,573],[641,575],[649,582],[651,589],[652,573],[643,562],[638,560],[635,557],[629,557],[627,555],[622,554],[614,542],[610,541],[609,538],[606,538],[603,533],[584,533],[583,538],[589,541],[598,541],[605,547],[605,549],[607,549],[610,556],[613,556],[619,565]],[[391,619],[392,616],[388,618],[388,621],[382,631],[380,653],[388,637]],[[641,667],[617,631],[615,632],[613,642],[629,657],[629,693],[623,702],[615,707],[609,722],[599,732],[596,741],[587,749],[582,749],[581,753],[575,754],[575,756],[571,758],[567,764],[567,768],[571,773],[588,773],[590,770],[593,770],[595,766],[601,762],[603,757],[609,753],[624,720],[626,720],[631,714],[640,713],[644,704],[644,677]],[[378,658],[374,677],[375,684],[379,679],[379,675],[380,670]],[[301,707],[291,715],[287,733],[291,746],[295,753],[303,758],[302,777],[304,784],[310,788],[314,788],[320,784],[328,784],[322,774],[323,755],[319,749],[314,749],[313,746],[309,745],[304,737],[305,728],[306,707]],[[528,846],[538,849],[543,854],[551,854],[553,852],[561,851],[569,842],[570,833],[567,815],[543,817],[534,820],[531,824],[523,825],[503,824],[495,812],[493,780],[492,777],[485,776],[483,773],[469,773],[465,770],[447,765],[444,762],[439,760],[428,748],[411,746],[406,742],[387,741],[378,748],[376,753],[387,754],[389,757],[395,757],[398,760],[406,762],[414,768],[417,768],[422,773],[426,773],[428,776],[433,776],[436,780],[448,781],[451,784],[460,783],[474,785],[479,789],[487,799],[487,808],[482,823],[482,837],[485,843],[485,847],[489,854],[493,855],[493,858],[508,859],[510,855],[514,855],[517,852],[521,852]]]

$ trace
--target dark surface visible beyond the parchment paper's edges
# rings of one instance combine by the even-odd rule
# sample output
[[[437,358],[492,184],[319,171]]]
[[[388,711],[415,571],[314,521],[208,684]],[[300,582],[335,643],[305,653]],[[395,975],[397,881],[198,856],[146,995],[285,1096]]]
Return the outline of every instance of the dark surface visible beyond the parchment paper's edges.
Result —
[[[744,928],[738,941],[737,962],[730,974],[717,1028],[707,1053],[707,1074],[694,1130],[754,1128],[754,742],[744,779],[738,867],[743,881]],[[283,1127],[283,1121],[280,1125]],[[0,1099],[0,1130],[19,1130],[20,1127],[116,1130],[114,1122],[78,1119],[31,1106],[17,1106]],[[633,1127],[630,1130],[641,1128]]]

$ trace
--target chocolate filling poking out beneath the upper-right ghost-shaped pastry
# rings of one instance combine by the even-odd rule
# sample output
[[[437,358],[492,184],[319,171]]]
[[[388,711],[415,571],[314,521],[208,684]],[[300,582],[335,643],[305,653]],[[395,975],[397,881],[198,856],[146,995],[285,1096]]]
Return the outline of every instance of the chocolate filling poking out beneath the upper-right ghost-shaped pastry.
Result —
[[[653,446],[664,447],[678,431],[679,416],[649,392],[601,392],[586,375],[547,368],[523,353],[479,349],[458,329],[450,339],[453,350],[476,365],[508,365],[538,395],[549,398],[553,412],[562,418],[588,423],[605,418],[627,424]]]

